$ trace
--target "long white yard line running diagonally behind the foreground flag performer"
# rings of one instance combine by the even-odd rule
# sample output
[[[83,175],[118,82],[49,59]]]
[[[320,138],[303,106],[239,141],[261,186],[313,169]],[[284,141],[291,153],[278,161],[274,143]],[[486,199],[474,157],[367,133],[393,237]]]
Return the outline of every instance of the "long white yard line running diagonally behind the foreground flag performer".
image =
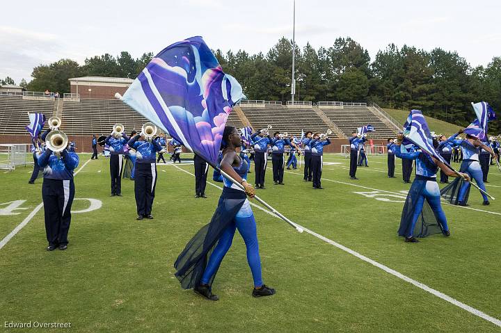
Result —
[[[191,174],[193,177],[195,176],[191,172],[183,170],[182,168],[179,168],[179,167],[176,167],[176,168],[183,171],[183,172],[186,172],[187,174]],[[294,173],[294,172],[290,172],[290,173]],[[211,182],[209,182],[209,184],[212,186],[215,186],[221,190],[223,189],[223,188],[221,188],[221,186],[217,186],[216,184],[212,184]],[[346,184],[348,184],[348,183],[346,183]],[[363,187],[363,186],[360,186],[360,187]],[[389,191],[384,191],[384,192],[389,192]],[[253,203],[251,203],[251,204],[253,204]],[[253,206],[257,206],[257,205],[253,204]],[[262,209],[262,207],[260,207],[260,206],[257,206],[257,207],[259,209]],[[262,210],[267,211],[266,209],[262,209]],[[273,215],[273,216],[275,215],[269,211],[267,211],[267,213],[269,213],[270,215]],[[278,218],[278,216],[276,216],[276,218]],[[396,270],[393,270],[392,268],[389,268],[388,266],[383,265],[382,263],[379,263],[379,262],[374,261],[368,257],[365,257],[363,254],[360,254],[356,251],[353,251],[349,247],[346,247],[344,245],[341,245],[340,243],[332,241],[331,239],[326,238],[325,236],[322,236],[321,234],[317,234],[316,232],[313,232],[312,230],[305,228],[302,225],[298,225],[298,226],[301,227],[305,232],[308,232],[308,234],[319,238],[321,241],[329,243],[329,244],[337,247],[338,249],[357,257],[360,260],[363,260],[367,263],[370,263],[372,266],[376,266],[377,268],[384,270],[386,273],[389,273],[395,277],[398,277],[399,279],[402,279],[405,282],[413,284],[414,286],[417,286],[417,288],[420,288],[424,291],[427,291],[428,293],[431,293],[432,295],[435,295],[436,297],[441,298],[442,300],[445,300],[446,302],[450,302],[451,304],[456,305],[456,307],[459,307],[465,311],[470,312],[470,314],[474,314],[475,316],[477,316],[479,318],[487,320],[488,322],[493,323],[494,325],[501,327],[501,320],[499,320],[498,318],[491,317],[488,314],[485,314],[484,312],[482,312],[478,309],[475,309],[474,307],[470,307],[469,305],[464,304],[463,302],[459,302],[459,300],[456,300],[456,299],[450,297],[449,295],[445,295],[445,293],[441,293],[440,291],[437,291],[436,289],[433,289],[433,288],[427,286],[426,284],[422,284],[421,282],[418,282],[415,279],[411,279],[410,277],[407,277],[406,275],[403,275],[403,274],[397,272]]]

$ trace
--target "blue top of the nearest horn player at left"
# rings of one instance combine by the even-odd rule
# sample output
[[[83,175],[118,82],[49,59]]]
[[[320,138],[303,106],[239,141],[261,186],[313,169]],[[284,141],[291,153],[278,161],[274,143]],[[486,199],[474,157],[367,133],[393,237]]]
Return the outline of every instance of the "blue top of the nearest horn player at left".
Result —
[[[54,155],[50,149],[38,156],[38,165],[44,168],[44,178],[47,179],[73,179],[73,170],[77,168],[78,163],[78,155],[66,149],[61,152],[61,157]]]

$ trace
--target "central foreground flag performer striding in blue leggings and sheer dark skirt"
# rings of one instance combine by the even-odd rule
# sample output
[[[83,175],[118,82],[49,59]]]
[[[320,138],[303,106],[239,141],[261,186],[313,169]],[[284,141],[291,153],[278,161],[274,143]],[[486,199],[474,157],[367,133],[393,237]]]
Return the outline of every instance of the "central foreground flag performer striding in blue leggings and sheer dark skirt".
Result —
[[[236,152],[240,145],[241,138],[237,129],[226,126],[223,133],[224,149],[220,167],[244,186],[245,190],[241,190],[228,179],[224,179],[223,193],[211,222],[202,227],[189,241],[174,265],[177,269],[175,276],[180,280],[182,288],[193,288],[193,291],[207,300],[218,300],[218,296],[212,293],[212,282],[214,282],[221,261],[230,250],[236,229],[246,244],[247,262],[254,282],[253,297],[269,296],[275,293],[275,289],[269,288],[262,282],[256,222],[246,199],[246,195],[254,197],[255,189],[246,181],[246,161],[240,159]]]

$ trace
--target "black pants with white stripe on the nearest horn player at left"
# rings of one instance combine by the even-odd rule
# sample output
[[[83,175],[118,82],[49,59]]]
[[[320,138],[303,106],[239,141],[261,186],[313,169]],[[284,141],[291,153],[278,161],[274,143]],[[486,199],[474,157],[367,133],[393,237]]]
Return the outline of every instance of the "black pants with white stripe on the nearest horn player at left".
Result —
[[[66,245],[70,231],[74,183],[71,180],[47,179],[42,184],[45,234],[49,245]]]

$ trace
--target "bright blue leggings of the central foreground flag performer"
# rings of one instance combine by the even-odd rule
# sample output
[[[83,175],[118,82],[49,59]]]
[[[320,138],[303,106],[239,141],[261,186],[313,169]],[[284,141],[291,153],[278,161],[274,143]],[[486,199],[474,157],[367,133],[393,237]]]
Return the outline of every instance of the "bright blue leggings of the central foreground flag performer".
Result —
[[[205,272],[202,276],[202,284],[208,284],[212,275],[218,270],[221,261],[226,252],[230,250],[232,245],[235,229],[239,230],[247,248],[247,262],[252,271],[254,286],[262,286],[261,276],[261,259],[259,255],[259,245],[257,244],[257,232],[254,214],[251,213],[248,217],[235,216],[234,220],[226,227],[219,238],[219,241],[214,247]]]

